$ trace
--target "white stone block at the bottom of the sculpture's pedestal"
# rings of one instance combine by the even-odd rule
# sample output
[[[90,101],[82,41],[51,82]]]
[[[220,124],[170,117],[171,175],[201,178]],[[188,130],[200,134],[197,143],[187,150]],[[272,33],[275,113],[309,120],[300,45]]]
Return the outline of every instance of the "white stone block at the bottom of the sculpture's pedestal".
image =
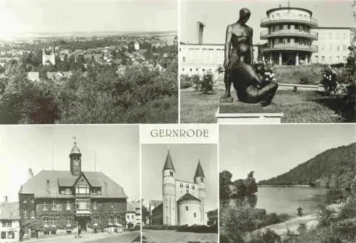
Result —
[[[218,124],[278,124],[281,123],[281,113],[220,113],[215,114]]]

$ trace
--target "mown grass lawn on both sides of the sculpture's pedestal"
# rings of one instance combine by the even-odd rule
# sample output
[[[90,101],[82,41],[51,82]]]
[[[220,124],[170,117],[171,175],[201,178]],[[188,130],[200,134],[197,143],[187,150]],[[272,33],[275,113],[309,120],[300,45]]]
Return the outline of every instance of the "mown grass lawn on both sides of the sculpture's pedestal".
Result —
[[[189,89],[181,90],[181,122],[215,123],[215,113],[222,95],[224,91],[221,88],[217,88],[212,95],[201,95]],[[315,91],[278,90],[273,102],[283,112],[283,123],[355,121],[355,113],[345,110],[345,104],[341,100],[325,97]]]

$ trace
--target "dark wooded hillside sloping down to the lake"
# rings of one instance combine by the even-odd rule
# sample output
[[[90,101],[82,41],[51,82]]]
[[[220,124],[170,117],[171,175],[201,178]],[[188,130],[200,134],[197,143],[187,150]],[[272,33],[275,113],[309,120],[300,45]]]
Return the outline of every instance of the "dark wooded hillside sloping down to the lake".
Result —
[[[311,185],[323,188],[351,187],[356,175],[356,143],[331,148],[299,164],[287,173],[258,185]]]

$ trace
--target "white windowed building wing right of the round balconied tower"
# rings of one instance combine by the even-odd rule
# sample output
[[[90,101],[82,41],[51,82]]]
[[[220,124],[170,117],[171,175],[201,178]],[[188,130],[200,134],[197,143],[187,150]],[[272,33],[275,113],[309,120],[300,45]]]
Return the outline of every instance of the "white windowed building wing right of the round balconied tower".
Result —
[[[346,63],[347,55],[355,36],[355,28],[318,28],[317,52],[313,53],[312,63]]]

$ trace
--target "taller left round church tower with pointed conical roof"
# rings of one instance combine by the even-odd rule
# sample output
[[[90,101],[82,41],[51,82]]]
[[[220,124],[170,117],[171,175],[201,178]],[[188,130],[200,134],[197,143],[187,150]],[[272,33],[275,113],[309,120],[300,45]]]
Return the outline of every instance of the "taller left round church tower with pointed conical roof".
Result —
[[[166,161],[162,171],[162,195],[163,195],[163,224],[176,225],[177,201],[176,201],[176,174],[172,158],[167,152]]]

